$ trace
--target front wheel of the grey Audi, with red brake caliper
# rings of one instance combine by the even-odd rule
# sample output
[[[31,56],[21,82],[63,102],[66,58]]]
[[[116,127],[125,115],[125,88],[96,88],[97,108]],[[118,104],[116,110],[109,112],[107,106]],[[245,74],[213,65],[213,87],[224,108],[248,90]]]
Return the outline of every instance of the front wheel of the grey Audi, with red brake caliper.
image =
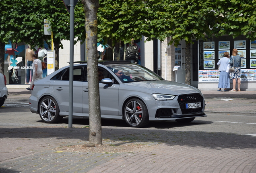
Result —
[[[145,127],[149,123],[148,109],[141,100],[130,99],[123,110],[124,120],[130,127]]]

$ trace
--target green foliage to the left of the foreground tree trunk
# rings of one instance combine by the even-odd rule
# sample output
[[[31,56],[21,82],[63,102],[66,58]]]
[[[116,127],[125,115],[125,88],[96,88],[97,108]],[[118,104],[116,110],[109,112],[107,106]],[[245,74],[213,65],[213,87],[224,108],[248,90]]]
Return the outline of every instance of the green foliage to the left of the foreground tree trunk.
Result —
[[[85,39],[85,15],[82,4],[75,8],[75,37]],[[62,0],[1,0],[0,6],[0,41],[8,43],[26,42],[32,47],[42,46],[46,40],[51,43],[51,36],[44,35],[44,19],[47,19],[54,34],[54,44],[62,47],[61,40],[69,40],[70,14]],[[75,41],[76,43],[76,41]]]

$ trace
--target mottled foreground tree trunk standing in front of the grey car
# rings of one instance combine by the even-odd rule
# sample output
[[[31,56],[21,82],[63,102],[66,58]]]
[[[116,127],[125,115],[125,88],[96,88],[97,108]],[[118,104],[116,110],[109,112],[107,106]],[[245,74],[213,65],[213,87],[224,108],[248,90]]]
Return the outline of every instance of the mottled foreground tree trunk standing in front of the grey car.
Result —
[[[85,11],[86,52],[88,56],[89,143],[102,144],[97,59],[97,10],[99,0],[82,0],[82,3]]]

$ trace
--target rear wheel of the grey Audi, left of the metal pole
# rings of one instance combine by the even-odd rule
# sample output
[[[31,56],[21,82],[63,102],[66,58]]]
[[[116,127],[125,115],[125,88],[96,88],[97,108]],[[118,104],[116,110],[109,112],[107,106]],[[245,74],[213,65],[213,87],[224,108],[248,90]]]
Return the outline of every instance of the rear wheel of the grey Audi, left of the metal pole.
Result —
[[[38,113],[45,123],[58,123],[63,118],[60,116],[57,101],[52,97],[45,97],[41,100]]]

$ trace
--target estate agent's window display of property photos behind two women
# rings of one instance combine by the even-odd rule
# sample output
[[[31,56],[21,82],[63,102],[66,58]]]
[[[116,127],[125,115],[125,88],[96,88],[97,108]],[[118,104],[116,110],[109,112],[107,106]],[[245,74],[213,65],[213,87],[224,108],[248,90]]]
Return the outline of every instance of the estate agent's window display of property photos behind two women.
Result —
[[[198,82],[218,82],[217,62],[226,51],[231,56],[233,48],[238,49],[238,54],[241,57],[241,81],[256,82],[256,40],[250,41],[246,36],[235,39],[231,36],[222,36],[209,40],[211,41],[201,40],[198,43]],[[246,42],[248,45],[250,44],[250,48],[246,49]],[[218,44],[218,50],[214,49],[214,44]]]

